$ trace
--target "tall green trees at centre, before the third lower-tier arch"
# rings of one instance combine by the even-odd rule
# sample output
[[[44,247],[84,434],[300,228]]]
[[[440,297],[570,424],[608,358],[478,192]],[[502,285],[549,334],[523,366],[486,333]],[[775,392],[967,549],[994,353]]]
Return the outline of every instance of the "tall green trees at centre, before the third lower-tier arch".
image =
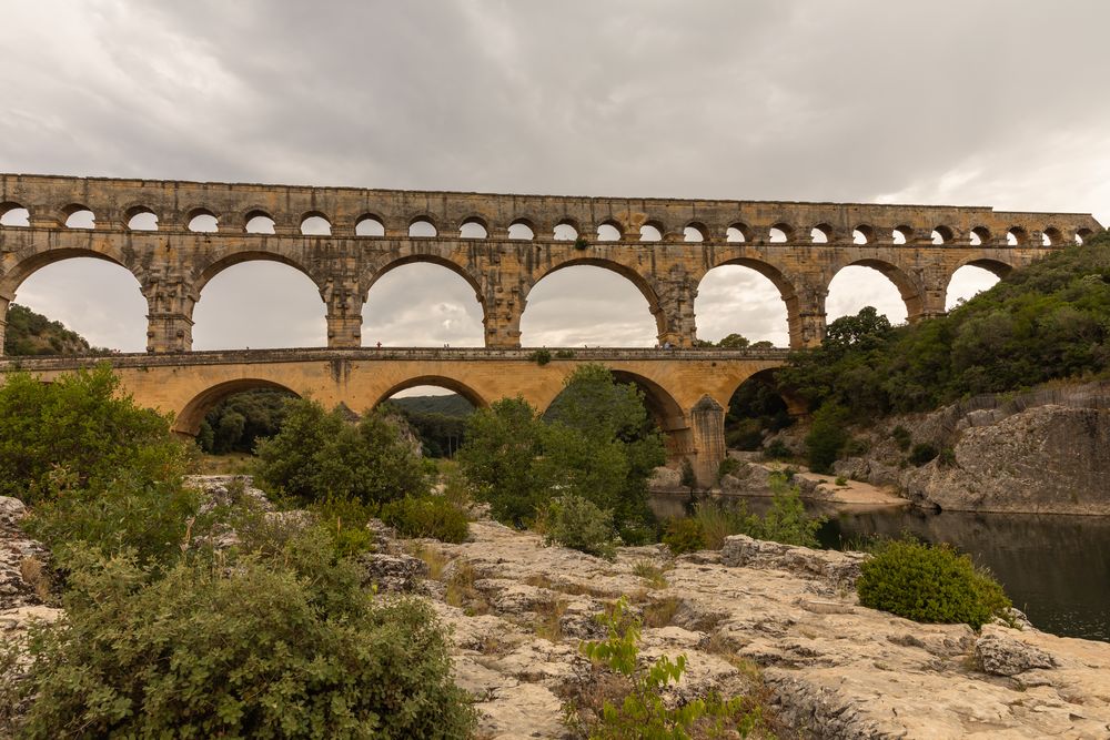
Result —
[[[558,491],[612,510],[625,539],[653,521],[647,479],[665,459],[640,393],[599,365],[578,367],[543,418],[521,398],[475,412],[458,452],[475,497],[498,520],[532,523]]]

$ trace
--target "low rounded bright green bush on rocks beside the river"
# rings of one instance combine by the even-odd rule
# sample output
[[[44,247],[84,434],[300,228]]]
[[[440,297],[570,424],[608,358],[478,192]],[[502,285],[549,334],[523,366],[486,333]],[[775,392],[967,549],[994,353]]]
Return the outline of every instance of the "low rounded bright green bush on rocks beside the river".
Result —
[[[1012,606],[1002,587],[948,545],[888,540],[861,566],[856,590],[865,607],[914,621],[979,629]]]

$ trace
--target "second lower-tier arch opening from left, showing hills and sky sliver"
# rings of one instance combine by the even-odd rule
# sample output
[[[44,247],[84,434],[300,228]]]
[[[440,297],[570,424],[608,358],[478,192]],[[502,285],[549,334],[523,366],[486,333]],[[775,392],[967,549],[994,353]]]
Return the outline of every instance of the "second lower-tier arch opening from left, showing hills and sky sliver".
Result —
[[[466,422],[486,405],[470,386],[440,376],[414,377],[385,393],[386,406],[408,424],[425,457],[451,458],[466,440]]]

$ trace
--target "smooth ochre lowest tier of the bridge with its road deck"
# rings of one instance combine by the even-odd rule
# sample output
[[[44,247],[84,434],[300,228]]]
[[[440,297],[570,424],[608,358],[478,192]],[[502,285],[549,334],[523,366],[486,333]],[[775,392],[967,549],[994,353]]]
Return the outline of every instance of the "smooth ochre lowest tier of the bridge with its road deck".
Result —
[[[583,363],[599,363],[635,383],[666,435],[668,462],[689,459],[710,483],[725,457],[724,424],[733,393],[749,378],[770,379],[785,349],[549,349],[539,364],[529,349],[305,348],[117,354],[0,361],[7,373],[24,369],[43,381],[109,363],[123,389],[142,406],[174,415],[175,432],[194,436],[204,415],[228,396],[254,388],[284,388],[325,406],[355,412],[392,395],[435,385],[463,395],[476,407],[521,396],[541,412]],[[800,410],[793,408],[791,410]]]

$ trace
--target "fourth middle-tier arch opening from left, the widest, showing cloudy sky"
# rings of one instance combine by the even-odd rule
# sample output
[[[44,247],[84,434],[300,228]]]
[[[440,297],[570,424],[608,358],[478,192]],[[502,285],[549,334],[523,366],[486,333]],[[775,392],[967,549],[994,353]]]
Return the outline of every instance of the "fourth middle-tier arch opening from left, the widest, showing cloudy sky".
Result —
[[[644,290],[612,268],[579,263],[548,273],[521,316],[525,347],[654,347],[659,324]]]

